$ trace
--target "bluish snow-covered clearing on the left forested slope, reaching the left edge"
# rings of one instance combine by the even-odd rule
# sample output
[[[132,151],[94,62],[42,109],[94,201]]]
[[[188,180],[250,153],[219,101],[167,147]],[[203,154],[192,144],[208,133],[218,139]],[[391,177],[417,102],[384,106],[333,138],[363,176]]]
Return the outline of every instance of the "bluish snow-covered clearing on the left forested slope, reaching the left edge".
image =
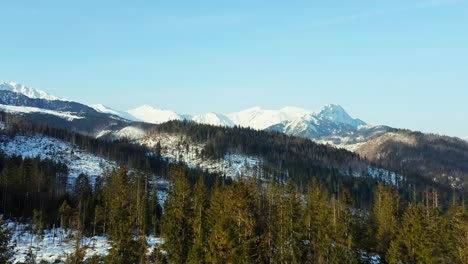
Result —
[[[94,178],[116,167],[114,162],[82,151],[69,143],[42,135],[17,135],[12,139],[4,136],[0,138],[0,148],[7,155],[15,154],[31,158],[39,156],[40,159],[63,162],[69,168],[70,183],[73,183],[81,173]]]

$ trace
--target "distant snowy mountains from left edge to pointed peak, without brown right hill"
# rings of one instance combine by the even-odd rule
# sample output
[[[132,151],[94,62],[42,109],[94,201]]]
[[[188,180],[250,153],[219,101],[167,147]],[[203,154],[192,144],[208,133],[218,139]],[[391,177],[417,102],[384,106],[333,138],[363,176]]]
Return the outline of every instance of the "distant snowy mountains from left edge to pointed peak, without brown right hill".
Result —
[[[335,145],[359,143],[387,130],[386,127],[379,127],[371,131],[373,126],[351,117],[335,104],[326,105],[319,111],[291,106],[277,110],[254,107],[230,114],[210,112],[187,115],[149,105],[120,111],[102,104],[86,106],[61,100],[44,91],[12,82],[0,84],[0,110],[27,116],[33,121],[47,121],[54,126],[109,138],[140,138],[150,124],[171,120],[273,130]],[[131,122],[143,123],[132,126]]]

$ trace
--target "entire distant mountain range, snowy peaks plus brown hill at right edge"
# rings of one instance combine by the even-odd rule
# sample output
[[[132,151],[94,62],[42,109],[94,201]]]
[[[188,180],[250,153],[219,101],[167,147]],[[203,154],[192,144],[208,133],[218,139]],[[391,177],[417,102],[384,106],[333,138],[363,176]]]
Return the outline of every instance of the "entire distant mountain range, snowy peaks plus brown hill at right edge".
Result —
[[[231,127],[251,128],[254,132],[273,131],[345,148],[402,175],[420,175],[444,186],[468,188],[468,167],[464,165],[468,164],[467,141],[370,125],[351,117],[336,104],[325,105],[319,111],[254,107],[231,114],[188,115],[148,105],[120,111],[100,104],[88,106],[61,99],[17,83],[0,83],[0,111],[40,126],[62,128],[103,140],[127,138],[137,144],[146,142],[146,145],[156,144],[160,140],[158,127],[174,120],[189,121],[190,127],[197,124],[217,127],[220,135],[233,131],[229,130]],[[174,125],[180,126],[180,122]],[[206,129],[206,126],[195,131],[197,129]],[[199,143],[209,145],[209,142]]]

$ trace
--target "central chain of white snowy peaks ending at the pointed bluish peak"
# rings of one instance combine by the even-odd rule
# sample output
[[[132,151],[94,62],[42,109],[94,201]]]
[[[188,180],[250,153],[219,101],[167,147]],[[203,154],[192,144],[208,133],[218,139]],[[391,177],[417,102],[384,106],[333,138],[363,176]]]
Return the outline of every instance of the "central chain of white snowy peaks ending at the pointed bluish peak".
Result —
[[[171,120],[191,120],[199,124],[214,126],[273,130],[334,145],[360,143],[375,134],[387,131],[387,127],[373,129],[373,126],[351,117],[343,107],[336,104],[328,104],[319,111],[291,106],[279,110],[254,107],[231,114],[210,112],[193,116],[148,105],[127,112],[113,110],[102,105],[94,105],[93,108],[99,112],[118,115],[128,120],[153,124]],[[373,130],[370,131],[370,129]]]

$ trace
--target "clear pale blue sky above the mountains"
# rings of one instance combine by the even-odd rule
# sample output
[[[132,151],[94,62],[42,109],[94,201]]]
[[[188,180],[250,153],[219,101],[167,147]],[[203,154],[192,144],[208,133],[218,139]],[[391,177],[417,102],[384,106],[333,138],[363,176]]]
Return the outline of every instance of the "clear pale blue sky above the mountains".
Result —
[[[468,2],[1,1],[0,80],[127,110],[337,103],[468,136]]]

